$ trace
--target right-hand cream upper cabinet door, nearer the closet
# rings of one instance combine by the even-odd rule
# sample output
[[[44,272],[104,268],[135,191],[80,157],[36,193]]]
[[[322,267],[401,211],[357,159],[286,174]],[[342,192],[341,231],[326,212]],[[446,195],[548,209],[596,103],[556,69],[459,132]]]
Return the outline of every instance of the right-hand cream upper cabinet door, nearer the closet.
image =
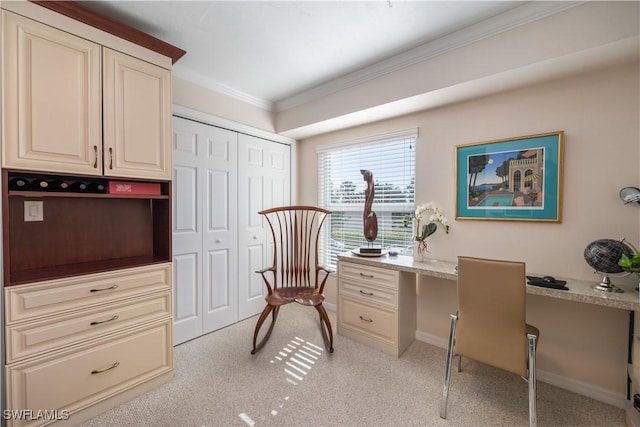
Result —
[[[104,174],[171,179],[171,71],[103,52]]]

